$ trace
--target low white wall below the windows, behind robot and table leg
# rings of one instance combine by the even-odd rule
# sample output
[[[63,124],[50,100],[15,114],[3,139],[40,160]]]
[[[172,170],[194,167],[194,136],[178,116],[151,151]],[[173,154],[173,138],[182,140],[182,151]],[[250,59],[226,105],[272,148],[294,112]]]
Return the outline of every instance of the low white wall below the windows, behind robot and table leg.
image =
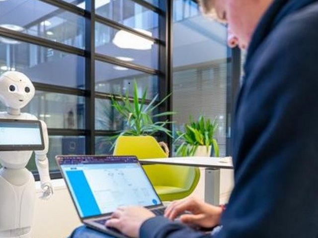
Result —
[[[200,168],[199,183],[191,194],[204,199],[204,168]],[[211,181],[212,182],[212,181]],[[221,170],[220,203],[226,203],[233,187],[233,171]],[[41,195],[37,185],[37,197]],[[37,199],[32,238],[66,238],[81,225],[63,179],[54,179],[54,196],[47,201]]]

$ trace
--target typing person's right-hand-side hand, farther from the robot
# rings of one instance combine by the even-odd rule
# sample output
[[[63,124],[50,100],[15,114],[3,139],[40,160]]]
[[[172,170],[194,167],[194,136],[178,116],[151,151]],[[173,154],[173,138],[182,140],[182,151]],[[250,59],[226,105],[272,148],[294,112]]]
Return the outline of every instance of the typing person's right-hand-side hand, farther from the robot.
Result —
[[[211,228],[220,224],[222,208],[212,206],[193,197],[172,202],[166,208],[164,216],[170,220],[174,220],[185,211],[191,213],[180,216],[180,221],[185,224],[194,224],[204,228]]]

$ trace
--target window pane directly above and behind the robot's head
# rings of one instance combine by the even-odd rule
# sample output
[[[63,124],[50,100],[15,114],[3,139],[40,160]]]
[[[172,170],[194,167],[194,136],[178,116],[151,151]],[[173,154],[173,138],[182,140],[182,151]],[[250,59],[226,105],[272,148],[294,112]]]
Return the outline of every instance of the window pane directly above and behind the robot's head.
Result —
[[[20,71],[33,82],[84,87],[83,57],[0,37],[0,73],[7,70]]]

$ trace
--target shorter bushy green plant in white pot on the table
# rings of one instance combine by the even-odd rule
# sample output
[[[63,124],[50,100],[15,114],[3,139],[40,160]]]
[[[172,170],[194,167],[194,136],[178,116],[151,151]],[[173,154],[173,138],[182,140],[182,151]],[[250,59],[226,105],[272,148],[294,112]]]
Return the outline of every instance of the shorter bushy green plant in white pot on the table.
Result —
[[[178,156],[210,156],[213,145],[214,155],[219,157],[219,146],[214,138],[217,127],[216,118],[211,121],[200,116],[198,121],[193,121],[190,117],[190,122],[184,124],[184,131],[176,132],[178,138],[175,142],[183,140],[176,154]]]

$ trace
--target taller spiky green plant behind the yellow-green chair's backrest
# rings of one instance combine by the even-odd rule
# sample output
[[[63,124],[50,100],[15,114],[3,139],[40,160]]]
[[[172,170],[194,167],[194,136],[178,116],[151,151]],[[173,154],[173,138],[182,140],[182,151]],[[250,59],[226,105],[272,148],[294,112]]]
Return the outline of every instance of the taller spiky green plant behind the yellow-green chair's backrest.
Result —
[[[135,81],[133,99],[129,98],[128,91],[126,91],[125,96],[120,95],[117,99],[112,97],[112,107],[114,107],[120,116],[127,121],[125,129],[118,131],[118,134],[112,137],[112,139],[119,136],[153,136],[157,132],[163,132],[172,137],[171,131],[166,128],[166,125],[173,122],[168,120],[155,121],[157,118],[175,114],[174,112],[155,114],[155,109],[157,109],[170,95],[171,94],[168,94],[160,102],[156,103],[159,97],[157,94],[152,101],[147,104],[147,89],[143,91],[142,97],[139,98],[138,85]],[[147,137],[142,139],[147,139]]]

